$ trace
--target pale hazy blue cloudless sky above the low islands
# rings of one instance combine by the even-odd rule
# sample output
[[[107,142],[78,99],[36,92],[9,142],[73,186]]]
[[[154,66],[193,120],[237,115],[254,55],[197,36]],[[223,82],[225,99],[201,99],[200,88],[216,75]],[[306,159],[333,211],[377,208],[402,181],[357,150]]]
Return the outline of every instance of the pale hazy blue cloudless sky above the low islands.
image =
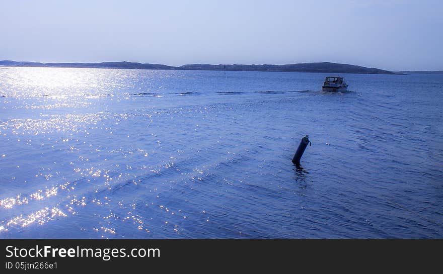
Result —
[[[0,0],[0,60],[443,70],[443,1]]]

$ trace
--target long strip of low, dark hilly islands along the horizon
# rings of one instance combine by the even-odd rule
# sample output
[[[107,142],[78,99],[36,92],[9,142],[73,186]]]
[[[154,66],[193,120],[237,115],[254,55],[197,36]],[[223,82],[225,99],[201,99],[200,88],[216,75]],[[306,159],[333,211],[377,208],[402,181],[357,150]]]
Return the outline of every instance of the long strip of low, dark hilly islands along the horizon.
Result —
[[[143,64],[136,62],[101,62],[101,63],[39,63],[27,61],[0,61],[0,66],[20,67],[77,67],[77,68],[125,68],[125,69],[175,69],[175,70],[226,70],[227,71],[278,71],[278,72],[324,72],[324,73],[359,73],[359,74],[410,74],[443,73],[443,71],[389,71],[374,67],[363,67],[331,62],[300,63],[287,65],[241,65],[241,64],[188,64],[168,66],[162,64]]]

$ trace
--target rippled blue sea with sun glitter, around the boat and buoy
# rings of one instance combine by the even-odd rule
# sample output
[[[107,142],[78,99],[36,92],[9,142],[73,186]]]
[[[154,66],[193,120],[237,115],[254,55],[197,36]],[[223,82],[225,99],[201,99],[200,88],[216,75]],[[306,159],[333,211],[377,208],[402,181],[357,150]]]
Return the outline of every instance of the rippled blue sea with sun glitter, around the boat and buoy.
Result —
[[[325,76],[0,68],[0,237],[442,238],[443,76]]]

